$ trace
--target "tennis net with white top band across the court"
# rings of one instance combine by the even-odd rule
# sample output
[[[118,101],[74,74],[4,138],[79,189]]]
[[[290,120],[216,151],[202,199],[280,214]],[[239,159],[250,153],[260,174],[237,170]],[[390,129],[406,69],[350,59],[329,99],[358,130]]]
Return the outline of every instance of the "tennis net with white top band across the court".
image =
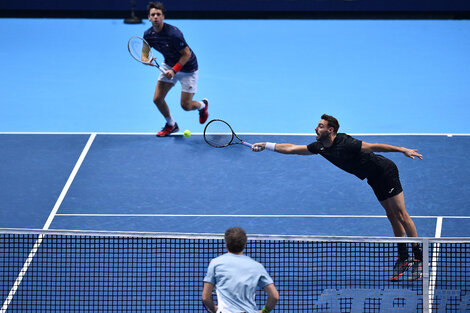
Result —
[[[248,239],[276,312],[470,312],[469,238]],[[422,246],[422,279],[388,280],[397,242]],[[0,313],[204,312],[202,280],[223,253],[221,234],[0,229]]]

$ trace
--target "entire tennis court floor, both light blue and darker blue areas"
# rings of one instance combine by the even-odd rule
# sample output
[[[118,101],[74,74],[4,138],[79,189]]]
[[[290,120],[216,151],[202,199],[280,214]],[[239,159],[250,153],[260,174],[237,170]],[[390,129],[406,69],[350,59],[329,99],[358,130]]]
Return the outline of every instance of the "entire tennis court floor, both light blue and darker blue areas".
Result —
[[[386,154],[400,170],[407,210],[419,236],[470,237],[468,21],[168,22],[183,30],[198,56],[195,98],[209,98],[209,119],[227,120],[249,142],[308,144],[315,140],[312,133],[321,114],[328,113],[339,119],[341,132],[367,142],[419,149],[423,160]],[[320,156],[208,146],[197,114],[179,107],[179,86],[170,91],[167,102],[181,132],[190,129],[193,135],[156,138],[164,124],[152,104],[157,73],[136,64],[126,49],[128,38],[148,27],[123,25],[120,20],[0,19],[2,34],[10,43],[0,51],[0,228],[202,235],[241,226],[248,234],[260,236],[393,236],[367,183]],[[24,40],[18,34],[26,33],[31,49],[16,49]],[[60,44],[45,44],[44,34]],[[12,261],[11,279],[31,253],[35,238]],[[78,258],[79,245],[44,268],[66,264],[70,256]],[[357,249],[350,253],[351,264],[362,262],[353,258],[366,253],[365,248]],[[445,272],[439,262],[453,251],[446,249],[441,242],[432,246],[430,259],[436,259],[429,265],[430,272]],[[104,254],[86,251],[95,265],[100,256],[109,258],[107,250]],[[269,256],[279,250],[273,251]],[[202,258],[219,252],[222,246],[204,252]],[[142,257],[135,253],[135,259]],[[260,257],[268,262],[268,256]],[[186,264],[179,257],[175,260]],[[297,264],[311,271],[301,265],[310,264],[305,257],[286,260],[286,266]],[[392,261],[380,266],[388,268]],[[450,257],[447,261],[453,264]],[[206,266],[201,264],[198,271]],[[462,264],[457,264],[459,277],[470,272]],[[94,265],[88,266],[84,272],[96,272]],[[366,266],[377,270],[374,266],[379,265]],[[114,272],[112,267],[107,270]],[[296,273],[295,266],[291,270]],[[43,273],[41,267],[37,271]],[[186,275],[199,282],[198,271]],[[119,275],[117,285],[124,279],[124,274]],[[352,269],[344,275],[350,281],[362,279]],[[102,278],[97,279],[100,285]],[[301,278],[292,274],[290,279]],[[29,286],[27,281],[26,277],[24,284]],[[468,307],[469,290],[468,280],[459,282],[460,289],[446,289],[445,279],[431,281],[435,285],[429,288],[406,281],[384,285],[377,280],[379,300],[372,302],[393,302],[395,298],[389,296],[393,289],[406,294],[436,288],[448,293],[440,298],[440,307],[447,301],[442,299],[452,299],[452,308],[458,311]],[[63,283],[60,278],[59,283]],[[360,289],[372,288],[367,280],[363,283],[333,291],[319,283],[315,292],[305,292],[315,295],[320,312],[323,300],[334,298],[331,301],[337,305],[344,298],[362,299]],[[121,287],[125,290],[128,285]],[[8,293],[10,287],[3,289]],[[457,290],[462,290],[458,296]],[[106,301],[126,299],[121,292],[125,293],[119,291]],[[155,305],[151,302],[139,309]],[[331,309],[333,304],[329,305]],[[354,308],[348,306],[349,311]],[[406,311],[407,306],[415,305],[400,308]],[[435,311],[442,312],[437,307],[436,302]]]

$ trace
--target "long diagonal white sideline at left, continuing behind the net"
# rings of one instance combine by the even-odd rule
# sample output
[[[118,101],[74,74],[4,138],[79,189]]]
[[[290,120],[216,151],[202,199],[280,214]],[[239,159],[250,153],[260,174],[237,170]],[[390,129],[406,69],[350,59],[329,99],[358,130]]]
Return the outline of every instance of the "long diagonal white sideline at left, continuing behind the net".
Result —
[[[75,179],[75,176],[77,175],[78,170],[80,169],[80,166],[83,163],[83,160],[85,159],[85,156],[88,153],[88,150],[90,150],[91,144],[93,143],[93,140],[95,140],[96,134],[92,133],[90,135],[90,138],[88,138],[88,142],[85,145],[85,148],[83,148],[82,153],[80,154],[80,157],[78,158],[77,163],[75,163],[75,166],[72,170],[72,173],[70,173],[69,178],[67,179],[67,182],[65,183],[64,188],[62,189],[62,192],[59,195],[59,198],[57,199],[54,207],[52,208],[51,213],[49,214],[48,219],[46,220],[46,223],[44,224],[44,227],[42,228],[43,230],[48,230],[49,226],[52,223],[52,220],[54,217],[57,215],[57,211],[59,210],[60,205],[62,204],[62,201],[65,198],[65,195],[67,194],[70,186],[72,185],[73,180]],[[18,290],[18,287],[21,284],[21,281],[23,280],[24,276],[26,275],[26,272],[28,271],[29,265],[33,261],[34,256],[36,255],[36,252],[39,249],[39,246],[42,243],[42,240],[44,239],[44,234],[40,234],[38,236],[38,239],[34,243],[33,249],[29,252],[28,257],[26,258],[26,261],[23,264],[23,267],[21,268],[18,277],[15,280],[15,283],[10,289],[10,292],[8,293],[7,298],[3,302],[3,306],[0,309],[0,313],[5,313],[6,310],[8,309],[8,306],[10,305],[11,301],[13,300],[13,297]]]

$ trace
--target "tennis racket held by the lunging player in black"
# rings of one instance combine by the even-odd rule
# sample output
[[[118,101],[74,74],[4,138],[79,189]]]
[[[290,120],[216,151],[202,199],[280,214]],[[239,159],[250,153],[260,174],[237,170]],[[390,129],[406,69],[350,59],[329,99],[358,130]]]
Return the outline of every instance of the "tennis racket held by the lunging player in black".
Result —
[[[243,141],[235,134],[232,127],[223,120],[212,120],[204,127],[204,140],[212,147],[224,148],[230,145],[241,144],[247,147],[252,146],[251,143]]]

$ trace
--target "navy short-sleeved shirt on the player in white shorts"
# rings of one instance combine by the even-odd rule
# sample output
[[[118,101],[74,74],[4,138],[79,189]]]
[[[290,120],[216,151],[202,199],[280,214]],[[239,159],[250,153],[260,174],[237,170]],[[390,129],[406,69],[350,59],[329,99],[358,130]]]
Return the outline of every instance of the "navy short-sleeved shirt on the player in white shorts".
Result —
[[[144,33],[144,39],[149,45],[165,57],[165,63],[173,67],[181,58],[180,51],[189,47],[183,33],[175,26],[164,23],[162,30],[157,33],[153,27]],[[189,48],[191,50],[191,48]],[[197,58],[191,50],[191,58],[183,66],[181,72],[191,73],[197,71]]]

